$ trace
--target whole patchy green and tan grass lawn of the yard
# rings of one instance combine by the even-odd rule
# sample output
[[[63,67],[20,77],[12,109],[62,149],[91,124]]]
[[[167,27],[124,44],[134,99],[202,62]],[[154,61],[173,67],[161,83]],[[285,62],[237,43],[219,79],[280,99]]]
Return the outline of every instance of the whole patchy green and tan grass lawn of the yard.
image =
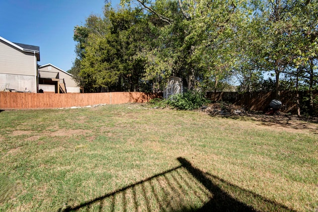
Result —
[[[305,125],[142,104],[2,111],[0,211],[314,212]]]

